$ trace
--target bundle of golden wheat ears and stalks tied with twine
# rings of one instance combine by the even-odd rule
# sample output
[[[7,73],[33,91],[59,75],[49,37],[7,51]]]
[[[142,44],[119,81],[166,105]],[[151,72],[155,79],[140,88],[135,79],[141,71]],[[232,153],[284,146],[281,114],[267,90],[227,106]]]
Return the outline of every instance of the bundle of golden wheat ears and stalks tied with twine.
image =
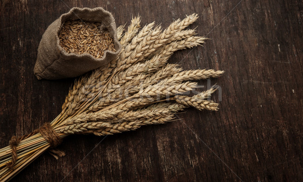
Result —
[[[107,135],[135,130],[171,121],[176,112],[188,107],[218,110],[218,104],[208,99],[215,89],[189,97],[187,93],[197,83],[188,80],[218,77],[223,71],[182,71],[168,63],[174,52],[196,47],[207,39],[195,36],[194,29],[185,30],[197,18],[192,14],[178,19],[164,30],[154,22],[140,28],[140,17],[133,18],[125,31],[125,26],[118,27],[122,45],[119,58],[79,78],[62,112],[51,123],[21,138],[14,136],[10,146],[0,149],[0,181],[11,179],[70,134]]]

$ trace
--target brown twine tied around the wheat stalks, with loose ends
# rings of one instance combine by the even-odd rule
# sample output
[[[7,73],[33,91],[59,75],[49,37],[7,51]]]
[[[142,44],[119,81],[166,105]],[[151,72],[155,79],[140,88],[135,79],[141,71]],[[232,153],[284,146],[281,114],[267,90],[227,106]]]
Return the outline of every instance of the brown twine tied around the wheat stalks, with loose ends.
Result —
[[[20,138],[17,138],[17,136],[12,136],[12,138],[10,140],[10,146],[12,148],[12,161],[7,163],[7,166],[9,168],[12,168],[17,161],[17,146],[19,145],[20,141],[25,140],[25,139],[29,138],[30,136],[37,134],[37,133],[40,133],[43,136],[43,138],[49,143],[51,148],[57,147],[62,142],[58,133],[53,129],[51,124],[48,122],[44,123],[43,126],[41,126],[40,128],[35,129],[33,132],[31,132],[27,135],[23,135]],[[55,154],[58,154],[59,156],[65,155],[61,151],[56,153],[54,150],[52,150],[52,152]],[[54,154],[52,154],[52,155],[54,156]],[[56,157],[56,156],[54,156],[54,157],[56,159],[58,159],[58,157]]]

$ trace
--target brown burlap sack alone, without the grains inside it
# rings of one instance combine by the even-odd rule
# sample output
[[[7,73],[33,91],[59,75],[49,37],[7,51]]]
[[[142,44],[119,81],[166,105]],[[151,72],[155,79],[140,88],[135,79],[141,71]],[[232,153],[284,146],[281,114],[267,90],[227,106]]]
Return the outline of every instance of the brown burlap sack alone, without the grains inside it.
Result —
[[[112,35],[116,52],[105,51],[102,58],[96,59],[90,54],[68,54],[60,46],[58,32],[66,20],[100,22]],[[116,59],[121,45],[117,38],[115,19],[112,14],[103,8],[73,8],[60,16],[44,32],[38,47],[37,61],[34,74],[38,79],[61,79],[79,76],[90,70],[107,65]]]

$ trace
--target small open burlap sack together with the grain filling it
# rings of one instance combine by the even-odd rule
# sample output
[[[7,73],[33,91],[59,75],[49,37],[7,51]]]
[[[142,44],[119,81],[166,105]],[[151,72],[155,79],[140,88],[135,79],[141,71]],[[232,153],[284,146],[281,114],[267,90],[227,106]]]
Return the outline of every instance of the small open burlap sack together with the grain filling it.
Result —
[[[120,48],[110,12],[73,8],[44,32],[34,74],[38,79],[79,76],[116,59]]]

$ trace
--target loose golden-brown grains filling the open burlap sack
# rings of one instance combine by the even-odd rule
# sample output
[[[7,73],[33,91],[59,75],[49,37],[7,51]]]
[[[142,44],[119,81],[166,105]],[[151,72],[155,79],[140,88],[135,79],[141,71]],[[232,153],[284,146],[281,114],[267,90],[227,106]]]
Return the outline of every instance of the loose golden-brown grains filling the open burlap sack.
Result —
[[[99,22],[66,21],[59,31],[59,38],[67,53],[90,54],[98,59],[106,50],[116,51],[113,38]]]

